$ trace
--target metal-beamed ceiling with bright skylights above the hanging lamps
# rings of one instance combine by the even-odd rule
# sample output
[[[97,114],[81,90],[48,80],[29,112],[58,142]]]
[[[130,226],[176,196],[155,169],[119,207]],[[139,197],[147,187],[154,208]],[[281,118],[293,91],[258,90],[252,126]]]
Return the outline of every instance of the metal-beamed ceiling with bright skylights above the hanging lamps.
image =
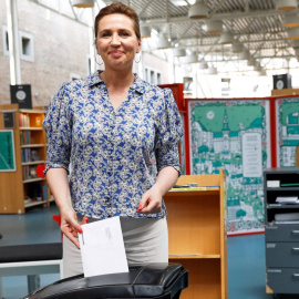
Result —
[[[31,0],[33,2],[52,7],[70,18],[81,22],[93,19],[90,9],[72,8],[71,0]],[[143,50],[162,59],[173,58],[173,49],[185,49],[187,54],[193,51],[198,61],[205,60],[217,68],[236,71],[247,70],[248,63],[241,60],[240,54],[233,53],[231,45],[219,42],[220,33],[208,33],[206,23],[210,20],[223,21],[224,31],[234,34],[234,41],[240,42],[244,50],[264,70],[298,69],[299,50],[293,48],[293,41],[288,38],[288,28],[283,27],[287,14],[298,13],[292,11],[277,11],[277,0],[203,0],[207,4],[206,19],[188,18],[188,10],[195,0],[121,0],[131,6],[141,20],[141,27],[150,27],[152,35],[164,33],[171,41],[172,48],[156,50],[153,38],[143,40]],[[112,0],[95,0],[94,13]],[[68,7],[66,7],[68,6]],[[56,7],[56,8],[53,8]],[[298,28],[299,30],[299,28]],[[296,42],[298,42],[297,40]],[[174,58],[175,64],[184,64],[184,58]],[[250,66],[252,69],[252,66]]]

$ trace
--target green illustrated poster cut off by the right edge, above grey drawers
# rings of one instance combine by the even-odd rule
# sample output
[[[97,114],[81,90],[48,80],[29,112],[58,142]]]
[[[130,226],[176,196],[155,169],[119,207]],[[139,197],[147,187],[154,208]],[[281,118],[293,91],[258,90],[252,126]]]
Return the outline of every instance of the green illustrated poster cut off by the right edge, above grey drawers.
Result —
[[[277,166],[295,166],[299,144],[299,97],[276,99]]]

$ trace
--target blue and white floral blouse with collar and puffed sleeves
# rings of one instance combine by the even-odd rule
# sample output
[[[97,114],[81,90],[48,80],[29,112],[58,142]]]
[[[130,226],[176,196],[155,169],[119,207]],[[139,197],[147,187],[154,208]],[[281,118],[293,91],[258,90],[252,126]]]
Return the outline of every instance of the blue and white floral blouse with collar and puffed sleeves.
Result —
[[[45,172],[69,171],[72,205],[94,218],[164,217],[136,214],[142,195],[165,166],[179,172],[177,143],[183,123],[172,91],[135,74],[117,110],[99,72],[64,83],[52,99],[43,127],[48,136]]]

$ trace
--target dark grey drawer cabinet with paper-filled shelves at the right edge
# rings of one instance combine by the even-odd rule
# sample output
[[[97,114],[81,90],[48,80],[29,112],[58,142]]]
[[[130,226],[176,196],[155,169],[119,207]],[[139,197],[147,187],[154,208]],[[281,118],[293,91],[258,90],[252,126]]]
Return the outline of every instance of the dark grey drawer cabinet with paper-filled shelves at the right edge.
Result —
[[[266,292],[298,295],[299,167],[266,169],[264,184]]]

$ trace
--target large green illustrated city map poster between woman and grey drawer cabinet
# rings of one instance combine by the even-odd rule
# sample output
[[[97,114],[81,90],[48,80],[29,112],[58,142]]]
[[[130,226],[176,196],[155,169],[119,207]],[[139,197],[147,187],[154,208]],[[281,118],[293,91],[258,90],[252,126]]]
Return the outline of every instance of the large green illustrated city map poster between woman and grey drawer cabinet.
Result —
[[[228,235],[264,231],[262,172],[270,167],[268,100],[190,100],[190,174],[227,175]]]

